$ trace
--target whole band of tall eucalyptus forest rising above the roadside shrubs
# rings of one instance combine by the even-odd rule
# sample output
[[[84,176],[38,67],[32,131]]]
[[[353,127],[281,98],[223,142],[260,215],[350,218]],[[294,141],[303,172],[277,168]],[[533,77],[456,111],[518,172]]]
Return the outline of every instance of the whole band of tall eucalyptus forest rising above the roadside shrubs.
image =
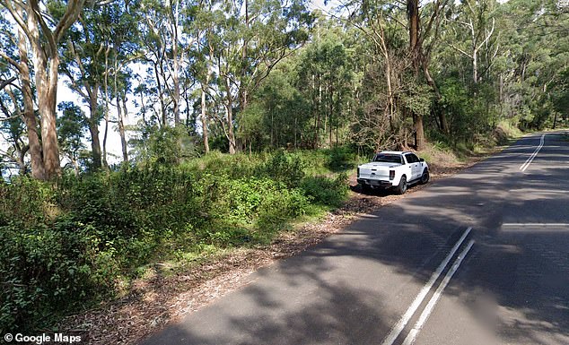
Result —
[[[52,179],[61,167],[79,174],[109,160],[422,149],[566,123],[563,1],[326,8],[311,11],[303,0],[2,0],[0,168]],[[61,83],[78,101],[56,104]],[[115,133],[122,157],[113,159]]]

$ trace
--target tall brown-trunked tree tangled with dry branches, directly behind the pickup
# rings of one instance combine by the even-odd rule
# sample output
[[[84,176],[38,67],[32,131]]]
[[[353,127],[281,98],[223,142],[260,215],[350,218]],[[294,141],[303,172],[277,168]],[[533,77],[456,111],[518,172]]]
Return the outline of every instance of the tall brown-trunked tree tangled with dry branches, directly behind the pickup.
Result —
[[[418,0],[355,0],[342,5],[350,13],[347,21],[372,44],[375,56],[366,75],[372,85],[381,88],[380,98],[369,95],[374,105],[370,104],[372,107],[365,111],[363,121],[355,126],[357,132],[373,136],[370,125],[377,126],[380,132],[388,133],[378,136],[378,140],[401,147],[407,146],[410,131],[416,149],[425,147],[423,119],[431,112],[433,94],[440,99],[429,65],[438,42],[442,13],[448,4],[449,0],[436,0],[423,6]],[[404,40],[407,47],[402,44]],[[444,113],[438,116],[445,130]],[[407,117],[412,118],[413,129],[407,128]]]

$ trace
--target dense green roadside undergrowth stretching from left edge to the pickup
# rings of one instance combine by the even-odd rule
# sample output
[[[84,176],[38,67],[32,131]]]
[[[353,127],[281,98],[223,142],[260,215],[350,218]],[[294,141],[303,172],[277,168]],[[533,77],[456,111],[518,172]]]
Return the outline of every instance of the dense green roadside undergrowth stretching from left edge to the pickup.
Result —
[[[312,204],[339,205],[346,176],[305,176],[326,154],[213,153],[57,185],[27,177],[0,184],[0,333],[45,329],[111,298],[158,254],[266,243]]]

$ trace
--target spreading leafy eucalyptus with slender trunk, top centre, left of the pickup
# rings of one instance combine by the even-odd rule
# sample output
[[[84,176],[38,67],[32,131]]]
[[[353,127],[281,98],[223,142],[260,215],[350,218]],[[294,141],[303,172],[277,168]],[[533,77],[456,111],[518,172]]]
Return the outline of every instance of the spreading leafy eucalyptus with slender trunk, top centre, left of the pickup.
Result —
[[[278,62],[308,39],[311,14],[303,0],[223,1],[213,6],[209,36],[217,72],[217,96],[223,99],[223,127],[229,151],[237,150],[234,110],[247,108],[249,95]]]

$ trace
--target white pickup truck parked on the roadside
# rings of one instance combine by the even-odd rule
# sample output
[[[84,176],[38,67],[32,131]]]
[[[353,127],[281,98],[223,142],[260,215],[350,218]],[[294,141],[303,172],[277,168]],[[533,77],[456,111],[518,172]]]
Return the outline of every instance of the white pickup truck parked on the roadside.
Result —
[[[413,152],[381,151],[371,162],[357,167],[357,182],[363,191],[383,188],[404,194],[408,185],[429,182],[429,166]]]

